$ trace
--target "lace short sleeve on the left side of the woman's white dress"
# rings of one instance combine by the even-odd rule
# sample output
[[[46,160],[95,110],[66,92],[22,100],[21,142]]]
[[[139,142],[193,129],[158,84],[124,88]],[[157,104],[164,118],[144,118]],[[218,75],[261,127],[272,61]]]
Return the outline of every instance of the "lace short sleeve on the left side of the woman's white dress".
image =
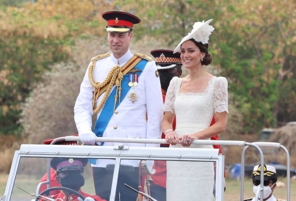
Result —
[[[175,112],[175,95],[176,95],[176,86],[178,83],[178,77],[173,77],[173,79],[170,81],[170,85],[168,86],[168,91],[165,95],[165,103],[163,104],[163,111],[169,111],[173,114],[176,114]]]

